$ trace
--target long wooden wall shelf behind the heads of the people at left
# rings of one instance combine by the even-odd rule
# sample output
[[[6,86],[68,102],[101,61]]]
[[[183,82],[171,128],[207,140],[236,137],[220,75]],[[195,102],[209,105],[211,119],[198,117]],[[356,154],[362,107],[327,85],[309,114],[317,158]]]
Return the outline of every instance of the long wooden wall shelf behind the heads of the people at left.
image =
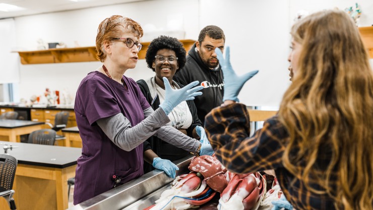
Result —
[[[187,52],[192,48],[195,40],[180,40]],[[140,50],[139,59],[145,59],[146,50],[150,42],[142,42],[143,48]],[[16,51],[21,58],[21,64],[52,64],[70,62],[90,62],[99,61],[96,58],[96,47],[75,47],[75,48],[53,48],[36,51]]]

